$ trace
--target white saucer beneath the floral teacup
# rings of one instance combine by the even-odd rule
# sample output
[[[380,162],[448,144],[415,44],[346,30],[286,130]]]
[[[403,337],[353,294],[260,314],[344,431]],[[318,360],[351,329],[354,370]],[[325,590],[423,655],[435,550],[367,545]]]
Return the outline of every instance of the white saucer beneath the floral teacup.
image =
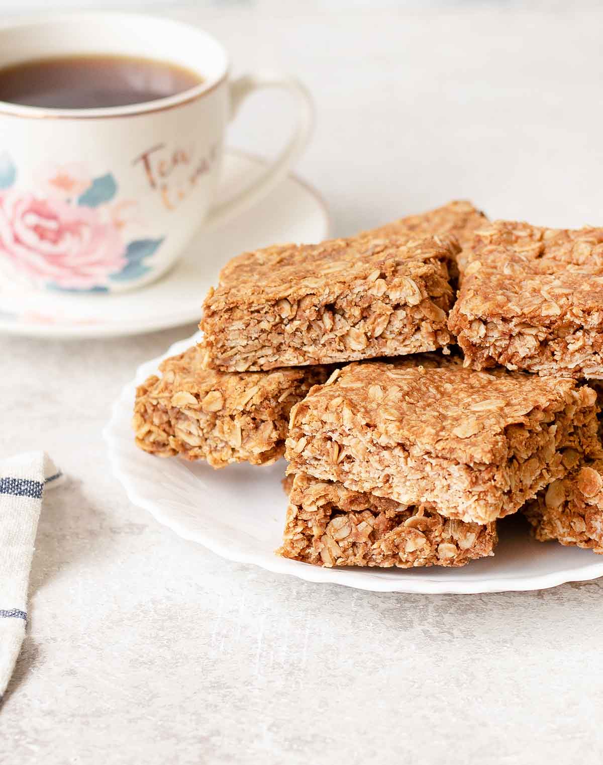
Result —
[[[258,158],[227,151],[220,196],[230,197],[263,166]],[[328,229],[321,197],[289,175],[236,220],[201,230],[174,268],[146,287],[115,295],[74,295],[0,284],[0,334],[118,337],[199,321],[207,290],[227,260],[279,242],[320,242],[327,238]]]

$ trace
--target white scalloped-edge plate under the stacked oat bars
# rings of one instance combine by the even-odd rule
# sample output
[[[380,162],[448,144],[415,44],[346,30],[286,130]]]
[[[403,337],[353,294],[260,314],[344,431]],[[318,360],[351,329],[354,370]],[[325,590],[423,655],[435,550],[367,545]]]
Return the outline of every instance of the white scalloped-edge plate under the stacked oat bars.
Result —
[[[539,590],[566,581],[603,576],[603,556],[590,550],[534,542],[520,516],[500,522],[494,558],[464,568],[318,568],[274,555],[285,522],[281,487],[285,461],[270,467],[207,464],[161,459],[134,444],[130,420],[135,386],[156,373],[158,363],[200,340],[181,340],[159,359],[139,367],[113,406],[103,435],[113,473],[129,499],[184,539],[200,542],[223,558],[253,563],[308,581],[347,584],[361,590],[477,593]]]

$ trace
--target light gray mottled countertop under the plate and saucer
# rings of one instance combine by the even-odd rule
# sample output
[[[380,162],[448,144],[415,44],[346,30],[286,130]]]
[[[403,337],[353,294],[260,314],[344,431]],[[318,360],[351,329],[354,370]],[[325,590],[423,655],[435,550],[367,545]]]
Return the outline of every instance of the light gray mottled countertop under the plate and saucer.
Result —
[[[334,233],[451,197],[601,223],[603,13],[388,5],[178,15],[236,70],[308,83],[318,128],[299,171]],[[266,98],[232,145],[273,149]],[[217,558],[129,503],[100,431],[135,367],[193,331],[0,339],[0,454],[45,448],[70,476],[44,503],[0,762],[598,765],[603,580],[473,596],[308,584]]]

